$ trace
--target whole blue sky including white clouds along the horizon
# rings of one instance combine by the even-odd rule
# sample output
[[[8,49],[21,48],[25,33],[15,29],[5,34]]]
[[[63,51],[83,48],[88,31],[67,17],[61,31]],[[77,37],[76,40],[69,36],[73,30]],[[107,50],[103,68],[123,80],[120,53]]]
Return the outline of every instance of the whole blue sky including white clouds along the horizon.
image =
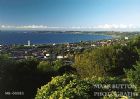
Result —
[[[0,0],[0,29],[140,30],[140,0]]]

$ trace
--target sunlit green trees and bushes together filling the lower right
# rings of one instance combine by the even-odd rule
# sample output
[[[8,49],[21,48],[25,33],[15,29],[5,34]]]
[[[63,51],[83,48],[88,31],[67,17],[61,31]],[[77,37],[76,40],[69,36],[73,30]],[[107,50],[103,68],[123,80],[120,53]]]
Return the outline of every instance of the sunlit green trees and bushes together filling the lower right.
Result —
[[[98,47],[75,56],[77,75],[63,75],[38,89],[36,99],[117,99],[118,92],[140,93],[140,37],[126,44]],[[86,78],[86,79],[85,79]],[[126,84],[131,88],[95,88],[96,84]],[[135,86],[135,87],[134,87]],[[96,96],[95,92],[110,92]],[[123,94],[120,97],[128,97]]]

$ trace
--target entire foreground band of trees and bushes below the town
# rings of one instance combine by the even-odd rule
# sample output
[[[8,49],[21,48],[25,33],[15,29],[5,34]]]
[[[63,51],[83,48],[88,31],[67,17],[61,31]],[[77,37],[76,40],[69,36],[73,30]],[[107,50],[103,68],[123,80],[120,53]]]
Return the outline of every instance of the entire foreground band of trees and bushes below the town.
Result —
[[[117,97],[117,91],[139,93],[139,82],[140,37],[126,44],[84,50],[75,55],[73,66],[64,65],[63,60],[15,61],[0,55],[0,99],[110,99]],[[96,84],[134,84],[136,88],[95,88]],[[5,91],[22,91],[24,95],[7,96]],[[94,94],[104,91],[111,93],[106,97]]]

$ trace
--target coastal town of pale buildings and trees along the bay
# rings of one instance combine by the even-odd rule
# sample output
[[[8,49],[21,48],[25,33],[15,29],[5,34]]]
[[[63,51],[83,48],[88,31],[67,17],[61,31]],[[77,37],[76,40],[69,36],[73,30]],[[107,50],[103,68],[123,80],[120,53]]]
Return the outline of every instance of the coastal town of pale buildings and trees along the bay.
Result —
[[[84,50],[94,49],[101,46],[115,44],[126,45],[128,37],[121,39],[108,39],[99,41],[80,41],[78,43],[63,44],[32,44],[30,40],[25,45],[0,45],[0,53],[7,54],[11,59],[22,60],[36,58],[39,60],[64,60],[64,63],[71,65],[74,56]]]

